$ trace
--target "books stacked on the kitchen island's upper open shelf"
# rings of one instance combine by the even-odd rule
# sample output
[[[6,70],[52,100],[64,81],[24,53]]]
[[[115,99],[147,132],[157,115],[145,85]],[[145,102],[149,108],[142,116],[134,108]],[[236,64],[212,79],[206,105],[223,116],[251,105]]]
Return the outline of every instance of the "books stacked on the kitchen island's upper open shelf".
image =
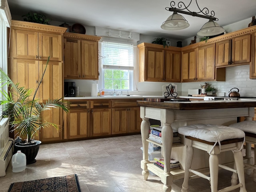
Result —
[[[162,144],[162,127],[161,126],[150,126],[149,136],[148,138],[154,142]],[[178,131],[173,132],[173,140],[172,143],[180,143],[181,139],[178,136]]]

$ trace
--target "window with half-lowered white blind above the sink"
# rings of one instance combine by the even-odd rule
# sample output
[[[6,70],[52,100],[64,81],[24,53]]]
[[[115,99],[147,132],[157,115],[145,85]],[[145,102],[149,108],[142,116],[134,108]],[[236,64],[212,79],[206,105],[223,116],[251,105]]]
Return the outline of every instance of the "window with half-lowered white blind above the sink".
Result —
[[[134,76],[134,46],[102,42],[102,88],[132,90]]]

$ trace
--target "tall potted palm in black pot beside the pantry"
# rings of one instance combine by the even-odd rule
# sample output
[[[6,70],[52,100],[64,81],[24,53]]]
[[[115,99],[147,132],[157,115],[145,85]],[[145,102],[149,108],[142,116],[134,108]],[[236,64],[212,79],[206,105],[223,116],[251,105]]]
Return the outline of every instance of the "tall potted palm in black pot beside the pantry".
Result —
[[[48,65],[50,57],[46,63]],[[39,150],[41,141],[33,140],[34,135],[46,126],[53,126],[59,130],[59,125],[52,122],[46,122],[41,119],[41,113],[51,108],[61,108],[68,112],[67,103],[60,99],[48,100],[46,103],[39,103],[36,98],[36,93],[42,83],[44,72],[38,82],[36,90],[31,88],[20,87],[19,84],[14,84],[4,71],[0,70],[0,87],[7,86],[10,91],[0,91],[2,98],[0,98],[0,107],[3,117],[9,118],[11,131],[16,132],[16,135],[26,137],[25,140],[17,142],[14,145],[16,150],[21,150],[26,154],[27,164],[36,162],[35,158]]]

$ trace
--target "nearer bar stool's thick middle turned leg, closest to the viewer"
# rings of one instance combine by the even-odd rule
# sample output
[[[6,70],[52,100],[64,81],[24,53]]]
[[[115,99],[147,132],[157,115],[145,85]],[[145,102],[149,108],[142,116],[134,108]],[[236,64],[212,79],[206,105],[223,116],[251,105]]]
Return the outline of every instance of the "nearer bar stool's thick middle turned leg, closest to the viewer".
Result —
[[[210,154],[209,167],[210,167],[211,192],[217,192],[217,188],[218,188],[218,170],[219,170],[219,159],[218,159],[217,155]]]

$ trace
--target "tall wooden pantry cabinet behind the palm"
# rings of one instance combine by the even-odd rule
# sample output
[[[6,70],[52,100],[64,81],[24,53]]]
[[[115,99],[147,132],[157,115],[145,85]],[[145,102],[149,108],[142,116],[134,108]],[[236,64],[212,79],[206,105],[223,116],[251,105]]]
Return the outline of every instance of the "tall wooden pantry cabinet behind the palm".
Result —
[[[66,28],[12,20],[10,31],[9,75],[14,83],[35,90],[40,76],[46,73],[38,91],[40,102],[59,99],[63,95],[63,34]],[[60,125],[62,110],[52,109],[42,114],[42,119]],[[53,127],[40,130],[39,138],[44,141],[62,139],[62,131]]]

